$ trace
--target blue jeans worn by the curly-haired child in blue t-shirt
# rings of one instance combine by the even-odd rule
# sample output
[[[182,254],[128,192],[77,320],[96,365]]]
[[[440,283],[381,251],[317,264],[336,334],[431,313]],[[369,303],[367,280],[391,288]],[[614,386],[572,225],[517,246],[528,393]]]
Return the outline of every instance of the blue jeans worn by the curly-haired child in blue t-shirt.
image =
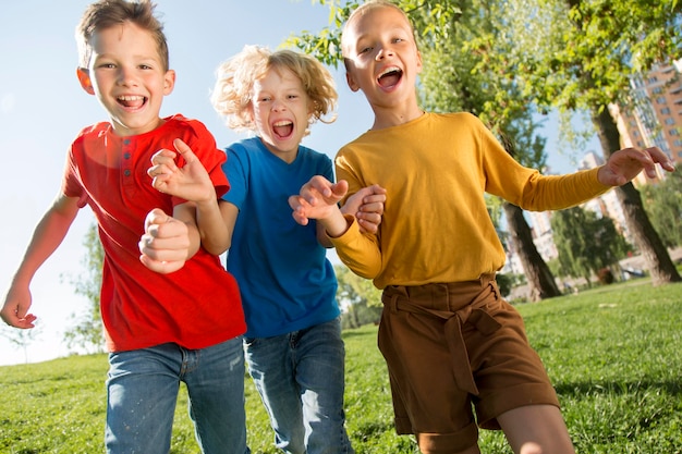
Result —
[[[339,319],[273,338],[245,338],[248,371],[288,454],[354,453],[343,410]]]

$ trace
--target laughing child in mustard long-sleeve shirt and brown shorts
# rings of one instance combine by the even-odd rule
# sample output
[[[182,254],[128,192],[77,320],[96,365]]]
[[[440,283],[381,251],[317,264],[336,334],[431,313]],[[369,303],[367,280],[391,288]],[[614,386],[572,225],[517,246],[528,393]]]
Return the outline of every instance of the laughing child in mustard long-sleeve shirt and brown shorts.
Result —
[[[378,343],[398,433],[414,433],[427,454],[478,453],[478,427],[502,429],[515,453],[573,453],[523,320],[496,284],[504,250],[484,193],[561,209],[672,163],[658,148],[625,149],[598,169],[544,176],[515,162],[474,115],[424,112],[414,30],[388,1],[356,9],[341,45],[349,86],[363,91],[375,121],[339,151],[339,183],[315,176],[290,206],[303,224],[317,219],[339,257],[383,290]],[[376,235],[361,234],[336,205],[372,183],[387,189]]]

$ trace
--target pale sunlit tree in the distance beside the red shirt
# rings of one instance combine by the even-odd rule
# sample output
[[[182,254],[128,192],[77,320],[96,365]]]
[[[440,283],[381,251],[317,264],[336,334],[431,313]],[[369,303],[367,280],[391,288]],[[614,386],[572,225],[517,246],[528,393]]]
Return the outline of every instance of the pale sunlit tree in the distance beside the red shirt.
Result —
[[[98,353],[105,347],[103,327],[99,309],[101,290],[101,271],[105,251],[97,234],[97,224],[93,223],[83,240],[86,253],[82,259],[85,273],[71,281],[77,295],[88,300],[87,310],[83,314],[72,314],[74,326],[64,333],[68,347],[81,347],[86,352]]]

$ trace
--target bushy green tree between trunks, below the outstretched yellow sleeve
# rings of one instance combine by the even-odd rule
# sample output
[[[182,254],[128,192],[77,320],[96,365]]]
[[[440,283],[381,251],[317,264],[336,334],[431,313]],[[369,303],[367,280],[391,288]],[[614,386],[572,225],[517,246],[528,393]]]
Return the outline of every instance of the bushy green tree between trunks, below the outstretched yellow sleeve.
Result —
[[[628,243],[610,218],[597,217],[581,207],[555,212],[551,228],[562,270],[573,278],[584,278],[588,284],[592,274],[618,263],[628,250]]]

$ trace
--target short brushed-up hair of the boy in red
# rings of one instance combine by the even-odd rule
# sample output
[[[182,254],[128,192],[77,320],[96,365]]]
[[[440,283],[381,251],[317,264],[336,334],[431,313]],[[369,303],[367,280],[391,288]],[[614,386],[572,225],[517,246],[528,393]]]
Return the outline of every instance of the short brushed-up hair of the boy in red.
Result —
[[[130,22],[149,32],[156,41],[163,71],[168,71],[168,42],[163,34],[163,25],[154,15],[155,8],[156,4],[151,3],[150,0],[99,0],[87,7],[76,26],[78,65],[83,69],[88,68],[93,56],[90,41],[95,33]]]

